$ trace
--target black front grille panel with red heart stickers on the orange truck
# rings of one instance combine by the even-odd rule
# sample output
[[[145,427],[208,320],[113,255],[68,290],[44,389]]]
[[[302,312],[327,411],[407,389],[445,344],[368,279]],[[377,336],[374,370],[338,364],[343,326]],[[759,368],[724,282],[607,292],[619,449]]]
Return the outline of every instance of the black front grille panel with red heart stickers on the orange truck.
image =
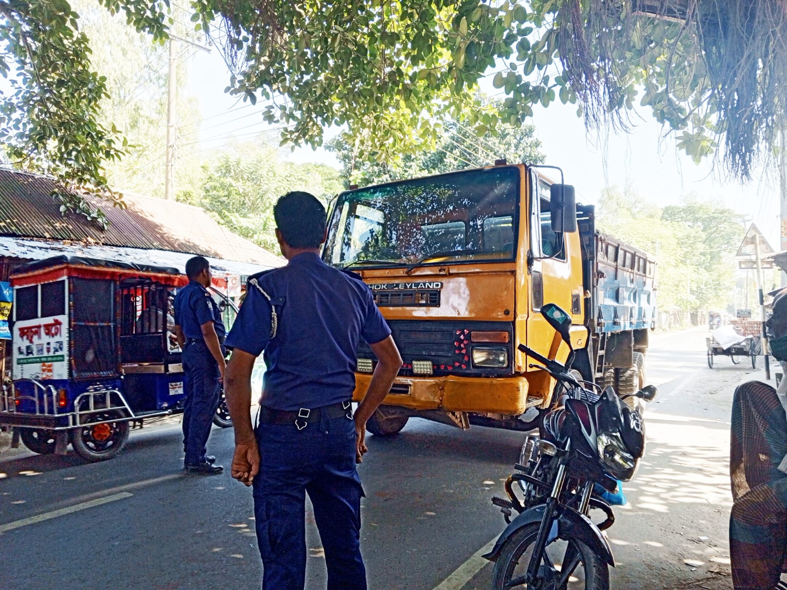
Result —
[[[413,360],[430,360],[432,371],[437,375],[464,374],[464,375],[503,375],[511,374],[512,369],[512,324],[507,322],[465,322],[465,321],[412,321],[390,320],[393,341],[396,342],[403,365],[399,374],[412,375]],[[473,331],[504,331],[508,332],[508,344],[495,344],[508,348],[508,367],[502,368],[475,368],[472,366],[472,347],[485,346],[471,342]],[[365,342],[358,346],[357,357],[360,359],[375,359],[371,348]],[[375,359],[376,360],[376,359]]]

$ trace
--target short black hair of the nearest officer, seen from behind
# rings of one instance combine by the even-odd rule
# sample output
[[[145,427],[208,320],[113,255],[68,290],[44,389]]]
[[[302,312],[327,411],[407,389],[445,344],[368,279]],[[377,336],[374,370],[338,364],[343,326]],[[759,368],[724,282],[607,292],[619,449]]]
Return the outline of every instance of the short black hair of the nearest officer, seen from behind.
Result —
[[[287,193],[273,208],[276,227],[290,248],[320,248],[325,235],[325,208],[312,194],[301,190]]]

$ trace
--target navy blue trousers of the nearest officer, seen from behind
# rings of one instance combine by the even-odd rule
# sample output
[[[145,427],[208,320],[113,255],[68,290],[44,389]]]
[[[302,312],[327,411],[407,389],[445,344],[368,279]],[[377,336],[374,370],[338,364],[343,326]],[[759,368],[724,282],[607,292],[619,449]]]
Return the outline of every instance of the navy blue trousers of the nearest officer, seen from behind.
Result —
[[[257,444],[261,461],[253,492],[263,590],[304,588],[307,493],[323,544],[328,590],[366,590],[360,555],[364,490],[355,465],[353,420],[329,420],[323,409],[320,422],[303,430],[260,424]]]

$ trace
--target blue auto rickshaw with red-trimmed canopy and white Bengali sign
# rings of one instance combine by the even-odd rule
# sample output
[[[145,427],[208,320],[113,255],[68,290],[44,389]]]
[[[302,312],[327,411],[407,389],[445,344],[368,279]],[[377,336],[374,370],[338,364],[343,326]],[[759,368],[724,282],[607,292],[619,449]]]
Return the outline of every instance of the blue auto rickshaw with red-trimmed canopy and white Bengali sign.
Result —
[[[65,454],[70,443],[102,461],[122,450],[131,427],[182,413],[172,300],[187,282],[174,267],[83,256],[17,267],[13,385],[0,397],[12,446]],[[231,426],[224,399],[214,423]]]

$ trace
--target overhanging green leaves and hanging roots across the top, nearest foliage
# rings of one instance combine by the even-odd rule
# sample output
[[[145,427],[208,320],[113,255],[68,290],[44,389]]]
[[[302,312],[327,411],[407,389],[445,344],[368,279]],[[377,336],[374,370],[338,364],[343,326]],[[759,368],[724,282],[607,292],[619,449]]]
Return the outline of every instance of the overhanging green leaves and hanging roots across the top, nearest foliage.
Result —
[[[168,0],[101,0],[153,42],[174,20]],[[781,0],[190,0],[194,28],[224,53],[227,91],[267,98],[283,142],[320,146],[344,125],[362,152],[396,163],[434,149],[436,123],[464,117],[480,137],[520,125],[534,105],[578,104],[586,124],[626,127],[650,109],[699,159],[723,134],[728,169],[746,178],[784,120]],[[107,191],[102,160],[122,147],[98,124],[105,80],[90,64],[66,0],[0,2],[0,141],[20,165],[64,186]],[[668,17],[656,18],[657,17]],[[493,76],[505,99],[476,90]],[[111,194],[110,194],[111,196]],[[66,198],[66,206],[72,204]]]

